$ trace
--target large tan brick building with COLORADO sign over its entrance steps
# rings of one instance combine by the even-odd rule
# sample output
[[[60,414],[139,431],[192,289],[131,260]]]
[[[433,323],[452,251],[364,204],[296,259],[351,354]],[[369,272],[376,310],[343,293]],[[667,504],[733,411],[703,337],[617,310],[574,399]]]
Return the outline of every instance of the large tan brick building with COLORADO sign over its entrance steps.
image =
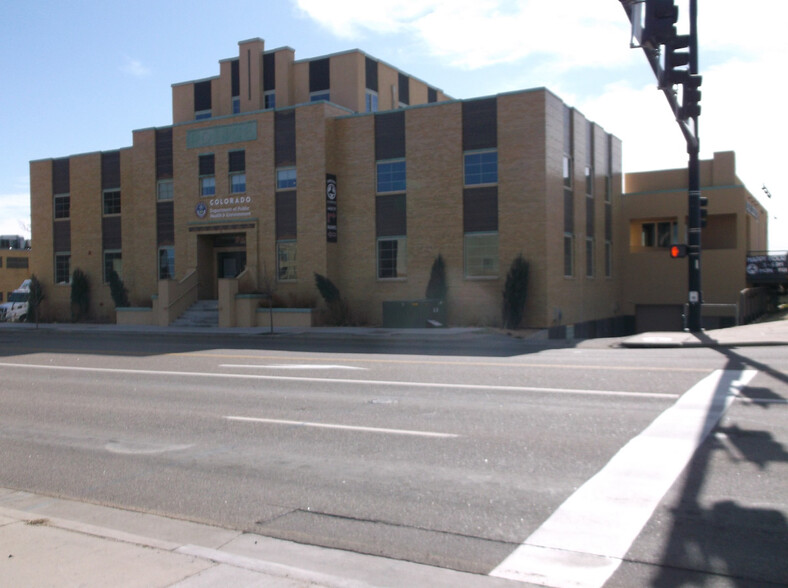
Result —
[[[448,322],[498,325],[522,254],[524,325],[579,336],[628,321],[621,143],[548,90],[453,100],[358,50],[296,61],[252,39],[172,96],[173,124],[130,147],[31,162],[45,317],[69,316],[75,268],[96,320],[115,318],[115,270],[151,309],[134,320],[218,299],[226,326],[257,324],[271,293],[319,304],[317,273],[377,325],[384,302],[424,297],[441,255]]]

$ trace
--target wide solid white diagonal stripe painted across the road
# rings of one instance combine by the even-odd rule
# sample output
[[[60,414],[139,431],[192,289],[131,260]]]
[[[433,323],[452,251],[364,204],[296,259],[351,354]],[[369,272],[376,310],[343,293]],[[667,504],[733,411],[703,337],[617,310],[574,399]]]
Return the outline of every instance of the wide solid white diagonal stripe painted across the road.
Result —
[[[689,389],[570,496],[491,576],[598,588],[755,370],[717,370]]]

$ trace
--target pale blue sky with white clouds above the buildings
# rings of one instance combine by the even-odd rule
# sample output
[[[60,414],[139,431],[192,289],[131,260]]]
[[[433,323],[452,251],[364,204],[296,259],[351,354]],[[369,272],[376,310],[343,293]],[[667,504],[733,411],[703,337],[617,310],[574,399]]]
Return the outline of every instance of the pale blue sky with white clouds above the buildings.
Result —
[[[677,4],[683,26],[688,0]],[[736,151],[769,210],[770,249],[788,249],[788,2],[699,0],[699,13],[701,157]],[[296,59],[360,48],[455,98],[544,86],[623,140],[625,171],[686,166],[619,0],[9,0],[0,234],[29,235],[30,160],[125,147],[132,130],[170,124],[171,84],[217,75],[254,37]]]

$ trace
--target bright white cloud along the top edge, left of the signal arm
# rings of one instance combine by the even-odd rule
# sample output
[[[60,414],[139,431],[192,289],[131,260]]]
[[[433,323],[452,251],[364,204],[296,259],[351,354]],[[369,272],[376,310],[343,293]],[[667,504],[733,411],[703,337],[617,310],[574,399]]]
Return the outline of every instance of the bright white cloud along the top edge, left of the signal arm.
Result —
[[[617,2],[586,0],[297,0],[344,38],[404,33],[433,56],[467,69],[541,57],[552,67],[628,63],[629,25]]]

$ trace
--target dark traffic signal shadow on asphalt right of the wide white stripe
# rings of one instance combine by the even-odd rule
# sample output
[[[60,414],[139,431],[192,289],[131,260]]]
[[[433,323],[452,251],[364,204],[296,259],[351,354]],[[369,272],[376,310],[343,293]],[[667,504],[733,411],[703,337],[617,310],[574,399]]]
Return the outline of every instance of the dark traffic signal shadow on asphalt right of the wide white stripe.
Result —
[[[784,373],[733,349],[718,351],[727,357],[725,369],[755,368],[788,382]],[[717,399],[728,393],[728,383],[723,381]],[[769,410],[769,402],[785,400],[770,388],[745,387],[740,396],[754,403],[752,410]],[[717,585],[708,574],[725,576],[726,585],[742,588],[788,582],[788,520],[783,512],[733,499],[712,503],[703,499],[714,459],[721,452],[737,467],[753,464],[764,473],[775,464],[788,462],[785,446],[768,431],[718,424],[685,473],[680,497],[671,511],[672,527],[659,559],[659,572],[652,581],[654,588],[703,586],[706,582]],[[738,473],[739,479],[752,475],[751,471]]]

